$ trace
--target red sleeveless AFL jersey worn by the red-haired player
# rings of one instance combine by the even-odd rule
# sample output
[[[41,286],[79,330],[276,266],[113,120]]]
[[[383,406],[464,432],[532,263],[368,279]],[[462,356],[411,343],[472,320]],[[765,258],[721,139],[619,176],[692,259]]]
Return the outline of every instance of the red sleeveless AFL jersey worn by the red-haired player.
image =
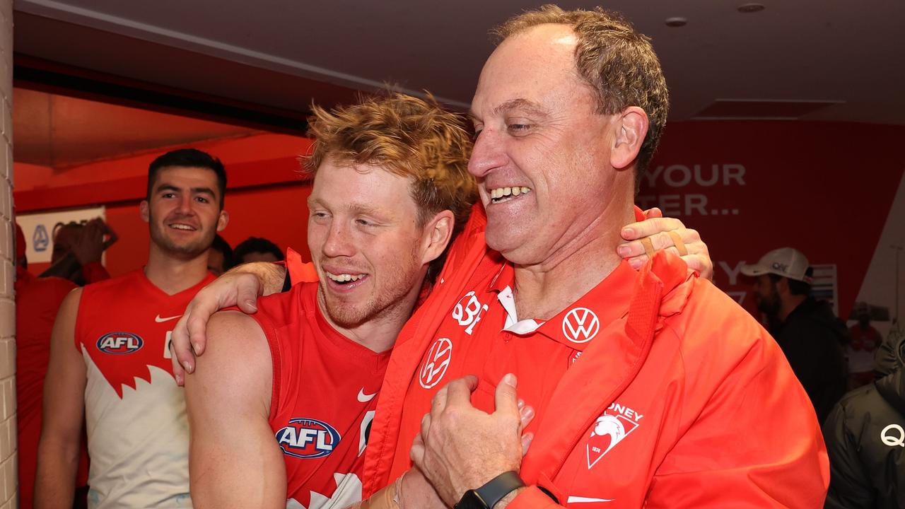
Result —
[[[317,292],[317,283],[296,284],[260,299],[251,316],[271,347],[270,423],[286,463],[287,499],[345,507],[360,500],[366,430],[389,351],[370,351],[333,329]]]

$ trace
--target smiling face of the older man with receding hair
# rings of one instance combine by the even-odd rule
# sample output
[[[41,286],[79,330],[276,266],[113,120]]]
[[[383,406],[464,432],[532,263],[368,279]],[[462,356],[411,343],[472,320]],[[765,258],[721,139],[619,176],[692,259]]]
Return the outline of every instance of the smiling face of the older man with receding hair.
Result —
[[[619,115],[596,112],[575,49],[562,24],[510,36],[472,101],[469,171],[487,209],[487,244],[516,264],[543,263],[595,228],[613,200],[631,203],[632,171],[610,160]]]

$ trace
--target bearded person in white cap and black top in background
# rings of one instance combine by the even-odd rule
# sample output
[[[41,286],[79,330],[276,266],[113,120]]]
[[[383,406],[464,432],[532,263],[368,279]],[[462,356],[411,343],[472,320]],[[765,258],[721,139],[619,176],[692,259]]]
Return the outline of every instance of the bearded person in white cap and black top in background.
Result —
[[[756,278],[757,309],[767,316],[770,334],[805,387],[817,418],[824,422],[847,388],[844,322],[829,303],[810,296],[813,271],[807,257],[795,248],[774,249],[757,264],[742,265],[741,274]]]

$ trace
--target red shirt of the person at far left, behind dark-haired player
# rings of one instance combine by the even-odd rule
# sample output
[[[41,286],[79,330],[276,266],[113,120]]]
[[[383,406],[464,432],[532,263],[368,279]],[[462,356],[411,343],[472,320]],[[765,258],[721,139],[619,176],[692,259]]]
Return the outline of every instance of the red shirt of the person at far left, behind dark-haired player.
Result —
[[[18,228],[18,226],[16,226]],[[15,392],[19,442],[19,501],[32,506],[34,471],[41,438],[44,376],[50,358],[51,331],[60,303],[74,283],[60,277],[37,278],[15,272]],[[84,453],[84,450],[82,451]],[[87,454],[82,455],[78,485],[88,482]]]

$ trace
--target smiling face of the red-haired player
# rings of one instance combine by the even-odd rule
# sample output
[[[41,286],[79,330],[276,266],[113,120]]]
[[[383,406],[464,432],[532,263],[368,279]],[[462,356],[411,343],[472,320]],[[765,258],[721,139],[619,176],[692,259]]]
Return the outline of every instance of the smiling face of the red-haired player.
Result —
[[[427,265],[443,252],[418,224],[411,178],[369,164],[325,159],[308,200],[308,246],[329,319],[351,328],[380,318],[408,318]],[[452,216],[448,211],[442,216]]]

